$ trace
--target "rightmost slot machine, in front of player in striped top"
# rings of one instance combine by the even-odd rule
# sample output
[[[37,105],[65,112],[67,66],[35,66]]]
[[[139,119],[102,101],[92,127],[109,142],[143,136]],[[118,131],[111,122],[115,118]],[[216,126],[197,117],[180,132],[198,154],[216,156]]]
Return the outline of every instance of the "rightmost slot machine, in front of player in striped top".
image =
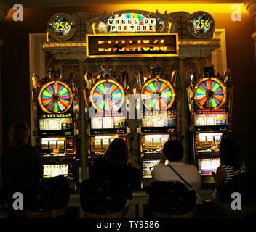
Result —
[[[220,141],[231,137],[231,72],[226,70],[223,75],[215,76],[213,67],[206,67],[201,77],[191,71],[190,78],[187,94],[193,162],[202,183],[215,183],[212,172],[220,166]]]

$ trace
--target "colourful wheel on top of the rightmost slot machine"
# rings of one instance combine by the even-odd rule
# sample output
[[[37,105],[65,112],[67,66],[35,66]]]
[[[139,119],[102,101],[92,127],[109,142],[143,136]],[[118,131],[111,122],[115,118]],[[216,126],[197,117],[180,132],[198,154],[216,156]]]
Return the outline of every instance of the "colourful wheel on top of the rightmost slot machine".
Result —
[[[218,78],[203,78],[196,84],[194,99],[201,109],[220,109],[227,99],[227,88]]]

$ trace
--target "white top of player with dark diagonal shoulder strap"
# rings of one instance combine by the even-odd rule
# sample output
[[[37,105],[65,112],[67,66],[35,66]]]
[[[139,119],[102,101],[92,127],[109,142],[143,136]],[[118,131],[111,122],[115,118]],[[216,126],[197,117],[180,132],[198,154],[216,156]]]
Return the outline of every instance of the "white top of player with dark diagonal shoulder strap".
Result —
[[[188,190],[193,189],[196,191],[196,202],[197,204],[201,204],[202,202],[198,194],[198,191],[201,188],[201,177],[197,168],[193,165],[185,165],[183,162],[169,162],[169,165],[171,165],[176,170],[176,172],[179,173],[184,178],[184,180],[193,187],[190,188],[187,186],[171,168],[162,163],[159,163],[153,168],[151,172],[152,177],[156,181],[180,181],[184,183]]]

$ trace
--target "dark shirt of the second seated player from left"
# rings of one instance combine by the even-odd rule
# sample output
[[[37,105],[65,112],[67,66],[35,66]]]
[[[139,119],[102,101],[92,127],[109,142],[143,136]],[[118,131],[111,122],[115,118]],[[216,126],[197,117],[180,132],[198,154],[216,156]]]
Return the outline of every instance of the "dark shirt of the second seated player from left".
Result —
[[[104,157],[99,157],[92,165],[90,178],[129,184],[140,180],[140,176],[140,170],[132,167],[132,165],[115,165],[105,160]]]

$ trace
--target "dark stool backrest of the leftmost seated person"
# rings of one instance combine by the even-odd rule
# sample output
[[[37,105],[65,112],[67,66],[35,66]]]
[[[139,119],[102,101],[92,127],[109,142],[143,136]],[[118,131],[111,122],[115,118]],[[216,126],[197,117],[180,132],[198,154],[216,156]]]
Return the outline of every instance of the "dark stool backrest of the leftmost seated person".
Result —
[[[33,212],[57,210],[68,205],[70,188],[63,176],[43,178],[25,194],[24,207]]]

